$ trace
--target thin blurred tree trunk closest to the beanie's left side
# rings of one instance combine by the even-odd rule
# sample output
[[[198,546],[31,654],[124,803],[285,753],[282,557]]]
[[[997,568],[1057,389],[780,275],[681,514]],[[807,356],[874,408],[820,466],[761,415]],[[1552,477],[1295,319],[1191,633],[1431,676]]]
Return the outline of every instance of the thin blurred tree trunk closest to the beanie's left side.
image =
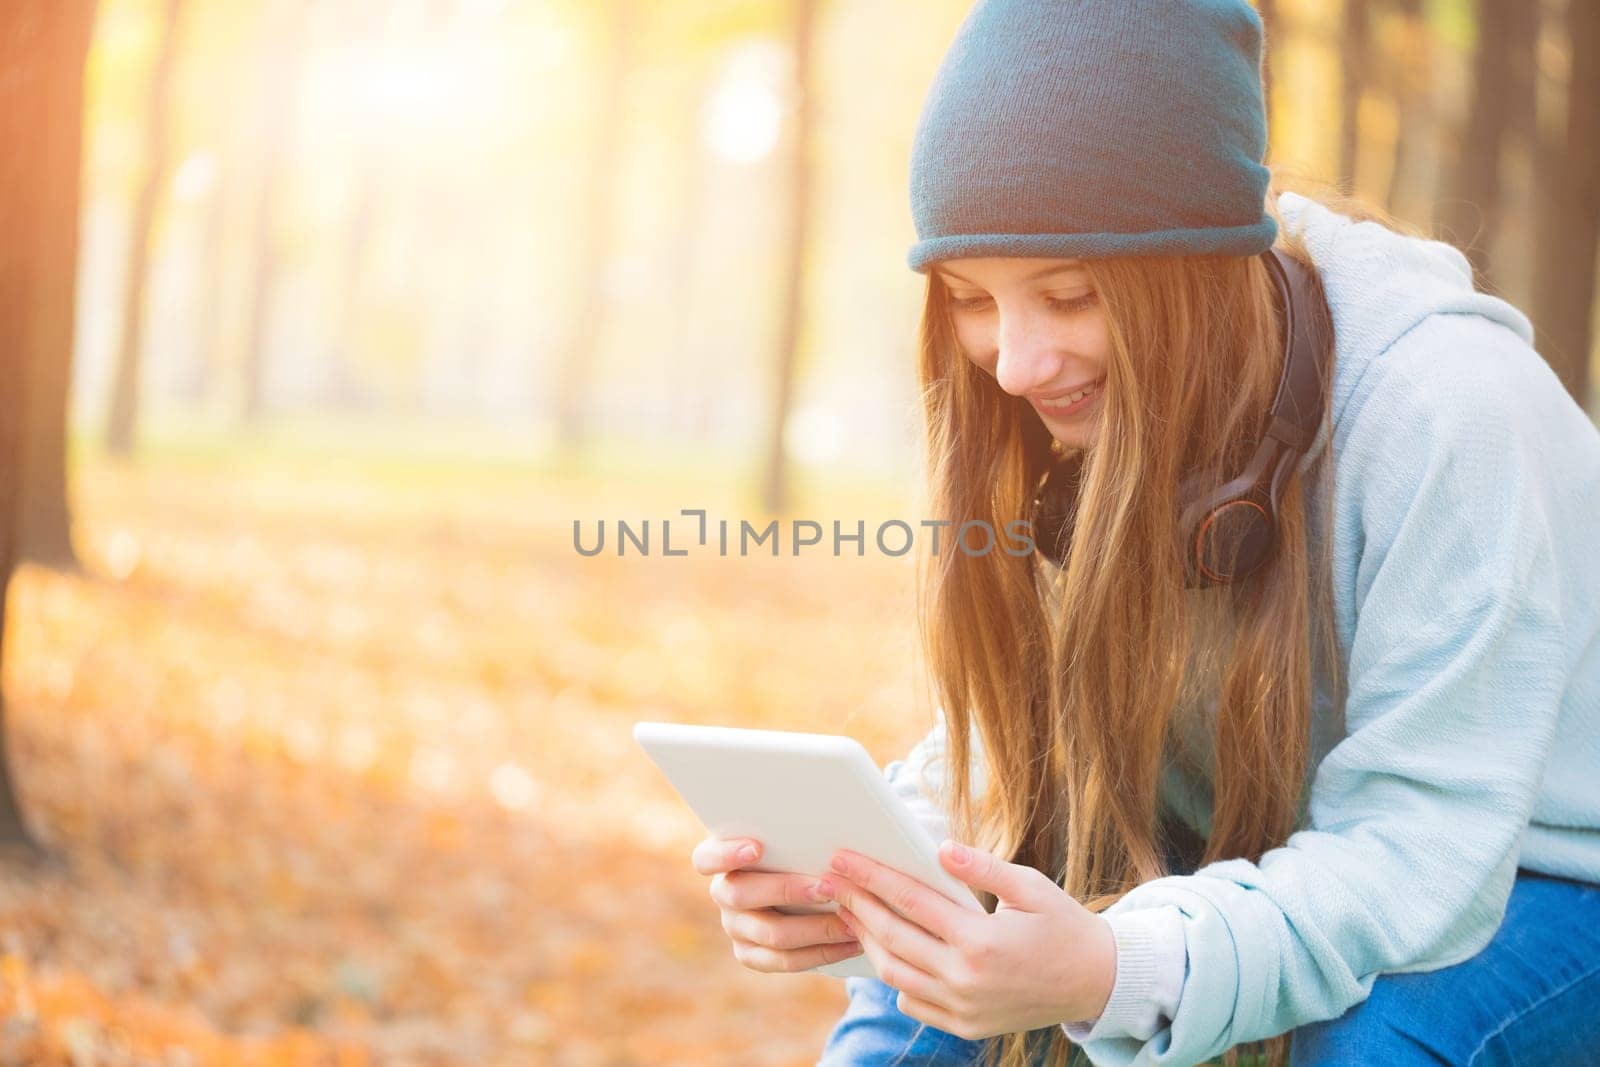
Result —
[[[779,298],[782,306],[778,309],[778,360],[773,376],[773,410],[768,419],[766,474],[762,485],[762,502],[770,512],[781,510],[787,498],[789,459],[784,434],[789,427],[800,328],[805,322],[805,266],[811,245],[811,139],[816,122],[811,54],[816,40],[816,0],[795,0],[790,16],[794,80],[789,91],[794,101],[794,123],[789,130],[789,234],[782,248],[786,259]]]

